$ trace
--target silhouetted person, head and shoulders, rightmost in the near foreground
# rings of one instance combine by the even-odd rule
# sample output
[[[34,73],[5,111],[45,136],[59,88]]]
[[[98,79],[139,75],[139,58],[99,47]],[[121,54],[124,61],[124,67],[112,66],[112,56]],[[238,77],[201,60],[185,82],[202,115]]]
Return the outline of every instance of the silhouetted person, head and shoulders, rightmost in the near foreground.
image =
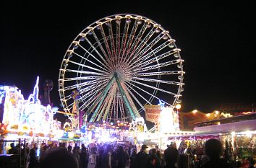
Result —
[[[233,168],[231,164],[221,159],[223,148],[221,141],[218,139],[209,139],[205,142],[205,154],[208,156],[208,161],[202,165],[202,168]]]

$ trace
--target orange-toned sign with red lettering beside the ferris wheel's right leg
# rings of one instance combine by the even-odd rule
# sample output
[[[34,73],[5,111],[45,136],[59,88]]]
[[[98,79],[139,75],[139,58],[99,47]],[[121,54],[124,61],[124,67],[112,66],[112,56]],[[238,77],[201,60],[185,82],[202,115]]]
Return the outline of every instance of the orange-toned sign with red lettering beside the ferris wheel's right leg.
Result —
[[[160,105],[145,105],[146,120],[152,123],[158,123],[160,112],[161,112]]]

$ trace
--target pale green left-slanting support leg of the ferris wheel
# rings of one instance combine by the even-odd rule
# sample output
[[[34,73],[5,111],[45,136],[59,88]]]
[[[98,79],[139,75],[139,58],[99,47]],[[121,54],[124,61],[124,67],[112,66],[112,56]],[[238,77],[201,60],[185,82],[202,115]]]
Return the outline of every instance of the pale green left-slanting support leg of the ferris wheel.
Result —
[[[90,109],[88,110],[88,111],[90,112],[91,110],[93,110],[93,109],[96,107],[96,105],[98,105],[97,108],[96,108],[96,110],[95,110],[95,112],[93,112],[92,118],[90,118],[90,122],[93,122],[93,121],[95,120],[95,117],[96,117],[97,114],[98,114],[98,110],[100,109],[100,107],[101,107],[101,105],[102,105],[102,103],[103,103],[103,100],[105,99],[106,94],[108,93],[108,90],[110,89],[111,84],[113,84],[113,82],[114,82],[114,76],[113,76],[112,79],[108,82],[108,84],[106,85],[106,88],[104,89],[104,91],[101,92],[101,95],[97,98],[97,100],[95,101],[94,105],[93,105],[92,107],[90,107]],[[101,100],[101,101],[99,102],[99,100]],[[99,103],[98,103],[98,102],[99,102]]]

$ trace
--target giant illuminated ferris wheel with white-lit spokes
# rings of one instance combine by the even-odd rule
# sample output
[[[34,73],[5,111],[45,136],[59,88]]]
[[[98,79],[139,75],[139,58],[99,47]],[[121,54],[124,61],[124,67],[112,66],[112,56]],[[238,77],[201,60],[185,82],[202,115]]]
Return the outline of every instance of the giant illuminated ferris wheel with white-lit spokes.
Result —
[[[152,19],[115,14],[93,22],[74,38],[61,63],[64,111],[72,113],[78,103],[90,122],[131,121],[159,100],[174,107],[184,90],[180,51]]]

